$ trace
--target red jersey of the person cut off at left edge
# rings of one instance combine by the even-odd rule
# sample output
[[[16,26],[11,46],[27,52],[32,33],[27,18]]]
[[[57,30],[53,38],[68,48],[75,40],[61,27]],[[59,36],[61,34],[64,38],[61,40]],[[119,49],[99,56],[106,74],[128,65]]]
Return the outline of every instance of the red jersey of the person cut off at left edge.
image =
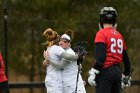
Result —
[[[0,53],[0,82],[6,81],[6,80],[7,80],[7,78],[4,73],[4,62],[2,59],[2,55]]]

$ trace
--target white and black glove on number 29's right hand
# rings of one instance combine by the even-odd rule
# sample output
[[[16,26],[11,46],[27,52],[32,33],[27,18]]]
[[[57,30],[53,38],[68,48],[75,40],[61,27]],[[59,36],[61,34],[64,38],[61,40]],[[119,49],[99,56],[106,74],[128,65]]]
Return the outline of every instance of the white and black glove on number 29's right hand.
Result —
[[[125,89],[129,86],[131,86],[131,77],[122,74],[121,88]]]

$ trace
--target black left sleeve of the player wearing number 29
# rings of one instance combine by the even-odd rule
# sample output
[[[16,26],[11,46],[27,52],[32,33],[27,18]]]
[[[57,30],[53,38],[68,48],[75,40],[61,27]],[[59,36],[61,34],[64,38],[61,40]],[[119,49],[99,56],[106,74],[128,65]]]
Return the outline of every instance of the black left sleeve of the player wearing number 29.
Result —
[[[95,43],[95,59],[94,68],[99,70],[103,67],[106,58],[106,45],[102,42]]]

